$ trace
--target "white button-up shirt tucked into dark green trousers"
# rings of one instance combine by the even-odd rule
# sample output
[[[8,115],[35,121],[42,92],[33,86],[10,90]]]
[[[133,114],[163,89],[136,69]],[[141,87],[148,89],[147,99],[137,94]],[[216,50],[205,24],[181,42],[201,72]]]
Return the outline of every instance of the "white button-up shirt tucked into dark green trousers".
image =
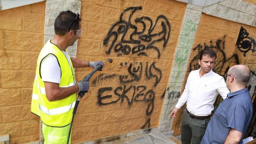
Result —
[[[191,71],[181,97],[176,104],[179,109],[187,102],[187,109],[197,116],[210,115],[218,94],[223,99],[230,91],[220,75],[212,70],[200,78],[200,69]]]

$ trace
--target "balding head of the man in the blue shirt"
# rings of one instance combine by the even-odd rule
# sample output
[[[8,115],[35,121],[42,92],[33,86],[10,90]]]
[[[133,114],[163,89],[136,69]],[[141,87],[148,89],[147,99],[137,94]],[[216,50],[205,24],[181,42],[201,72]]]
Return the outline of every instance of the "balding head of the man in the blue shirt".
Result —
[[[247,85],[250,80],[250,69],[245,65],[234,65],[228,70],[229,74],[234,76],[237,83],[240,85]]]

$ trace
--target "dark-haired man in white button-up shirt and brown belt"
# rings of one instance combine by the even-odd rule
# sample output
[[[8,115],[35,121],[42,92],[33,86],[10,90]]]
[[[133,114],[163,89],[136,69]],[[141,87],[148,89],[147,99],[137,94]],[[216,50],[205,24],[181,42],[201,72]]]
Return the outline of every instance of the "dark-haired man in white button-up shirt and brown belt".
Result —
[[[210,116],[214,110],[214,102],[218,94],[223,99],[230,91],[224,78],[212,71],[216,53],[204,49],[199,57],[199,70],[191,71],[187,83],[170,117],[175,118],[177,111],[187,102],[181,126],[182,144],[198,144],[205,134]]]

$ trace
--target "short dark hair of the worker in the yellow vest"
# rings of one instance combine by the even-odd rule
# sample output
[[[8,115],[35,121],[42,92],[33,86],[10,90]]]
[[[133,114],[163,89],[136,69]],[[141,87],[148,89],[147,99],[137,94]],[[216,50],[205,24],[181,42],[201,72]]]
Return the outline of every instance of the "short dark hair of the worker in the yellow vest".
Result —
[[[77,30],[79,29],[79,22],[81,22],[79,13],[73,13],[70,10],[62,11],[54,22],[55,34],[63,36],[70,30]]]

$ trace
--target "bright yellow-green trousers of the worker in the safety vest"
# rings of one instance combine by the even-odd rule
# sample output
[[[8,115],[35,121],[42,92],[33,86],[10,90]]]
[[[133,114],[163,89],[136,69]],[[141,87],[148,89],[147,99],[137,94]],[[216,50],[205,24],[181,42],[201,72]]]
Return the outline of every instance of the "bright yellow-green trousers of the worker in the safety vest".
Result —
[[[65,127],[50,127],[42,123],[42,132],[44,135],[44,144],[66,144],[70,124]],[[71,143],[71,134],[69,144]]]

